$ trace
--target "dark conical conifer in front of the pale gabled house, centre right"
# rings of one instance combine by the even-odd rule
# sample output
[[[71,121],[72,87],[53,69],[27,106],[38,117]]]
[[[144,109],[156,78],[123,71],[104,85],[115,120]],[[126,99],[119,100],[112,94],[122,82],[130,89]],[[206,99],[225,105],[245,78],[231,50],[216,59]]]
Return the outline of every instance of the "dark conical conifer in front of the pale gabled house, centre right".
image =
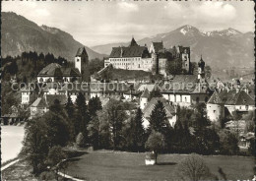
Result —
[[[167,121],[163,103],[160,100],[158,100],[157,104],[155,105],[149,122],[150,131],[155,130],[156,132],[160,132],[163,135],[166,133],[166,128],[169,126],[169,123]]]

